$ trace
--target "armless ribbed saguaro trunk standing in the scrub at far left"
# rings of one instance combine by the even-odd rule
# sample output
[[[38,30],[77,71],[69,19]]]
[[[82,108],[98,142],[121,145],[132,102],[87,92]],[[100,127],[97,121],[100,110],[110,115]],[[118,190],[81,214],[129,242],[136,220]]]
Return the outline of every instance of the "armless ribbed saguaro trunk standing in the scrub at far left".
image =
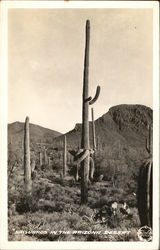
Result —
[[[24,125],[24,181],[26,195],[32,191],[31,165],[30,165],[30,141],[29,141],[29,117],[26,117]]]

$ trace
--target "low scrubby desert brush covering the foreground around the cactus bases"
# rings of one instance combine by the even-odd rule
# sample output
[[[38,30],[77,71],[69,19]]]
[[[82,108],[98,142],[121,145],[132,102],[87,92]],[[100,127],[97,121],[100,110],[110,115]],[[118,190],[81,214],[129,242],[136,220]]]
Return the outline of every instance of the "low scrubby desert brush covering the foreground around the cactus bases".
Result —
[[[99,161],[100,163],[100,161]],[[118,162],[117,162],[118,163]],[[124,168],[125,169],[125,168]],[[57,172],[47,169],[37,170],[37,177],[33,182],[32,198],[29,202],[25,200],[23,173],[17,169],[16,175],[9,182],[9,237],[17,239],[11,231],[12,226],[16,230],[34,229],[48,230],[43,235],[24,235],[19,237],[22,240],[28,237],[39,241],[126,241],[136,240],[135,232],[131,236],[127,235],[81,235],[81,234],[60,234],[54,235],[49,232],[52,230],[80,230],[80,231],[104,231],[108,230],[127,230],[136,228],[139,225],[137,213],[136,197],[131,193],[135,192],[135,180],[133,183],[128,181],[127,188],[121,185],[121,174],[118,172],[119,179],[116,179],[115,187],[112,179],[107,179],[105,169],[105,180],[89,184],[88,204],[80,206],[80,183],[75,183],[69,176],[61,180]],[[21,170],[22,172],[22,170]],[[111,173],[111,172],[110,172]],[[20,177],[21,175],[21,177]],[[17,183],[16,183],[17,182]],[[130,185],[129,185],[130,182]],[[113,202],[126,202],[131,208],[130,215],[123,215],[119,211],[113,215],[111,204]],[[14,205],[16,211],[14,211]],[[97,216],[97,217],[96,217]],[[88,220],[85,218],[88,217]],[[96,218],[95,218],[96,217]],[[105,221],[102,220],[105,218]]]

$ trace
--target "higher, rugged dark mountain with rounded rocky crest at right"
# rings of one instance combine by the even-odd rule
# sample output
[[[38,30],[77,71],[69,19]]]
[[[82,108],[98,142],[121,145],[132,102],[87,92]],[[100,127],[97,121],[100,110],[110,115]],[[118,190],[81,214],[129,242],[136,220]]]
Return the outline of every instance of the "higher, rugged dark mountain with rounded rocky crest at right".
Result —
[[[153,111],[145,105],[116,105],[95,120],[95,131],[97,136],[102,137],[102,141],[105,141],[104,134],[108,134],[109,139],[113,133],[115,137],[123,137],[123,139],[126,139],[129,134],[130,137],[135,136],[135,139],[139,135],[139,140],[144,143],[147,126],[152,123],[152,119]],[[90,121],[90,138],[92,138],[91,123]],[[75,127],[65,135],[73,137],[73,134],[81,136],[81,123],[75,124]]]

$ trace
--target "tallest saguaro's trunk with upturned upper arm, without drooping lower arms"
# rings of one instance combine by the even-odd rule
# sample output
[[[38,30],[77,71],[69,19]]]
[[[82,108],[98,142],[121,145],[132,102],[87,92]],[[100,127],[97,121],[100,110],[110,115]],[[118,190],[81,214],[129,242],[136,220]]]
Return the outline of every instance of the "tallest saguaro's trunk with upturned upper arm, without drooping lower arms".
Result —
[[[92,99],[89,97],[89,43],[90,43],[90,21],[86,21],[86,40],[85,40],[85,58],[83,72],[83,96],[82,96],[82,139],[81,148],[88,151],[87,156],[81,162],[82,179],[81,179],[81,203],[88,201],[88,177],[89,177],[89,105],[92,105],[99,96],[100,87],[97,87],[96,95]]]

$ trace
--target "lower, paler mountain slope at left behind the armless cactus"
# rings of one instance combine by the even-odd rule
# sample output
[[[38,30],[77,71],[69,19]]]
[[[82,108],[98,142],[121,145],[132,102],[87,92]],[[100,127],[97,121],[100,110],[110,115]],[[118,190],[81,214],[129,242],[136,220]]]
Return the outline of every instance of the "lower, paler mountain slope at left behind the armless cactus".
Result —
[[[8,124],[8,142],[14,144],[20,143],[23,140],[24,123],[14,122]],[[61,133],[30,123],[30,138],[32,143],[52,143],[54,138]]]

